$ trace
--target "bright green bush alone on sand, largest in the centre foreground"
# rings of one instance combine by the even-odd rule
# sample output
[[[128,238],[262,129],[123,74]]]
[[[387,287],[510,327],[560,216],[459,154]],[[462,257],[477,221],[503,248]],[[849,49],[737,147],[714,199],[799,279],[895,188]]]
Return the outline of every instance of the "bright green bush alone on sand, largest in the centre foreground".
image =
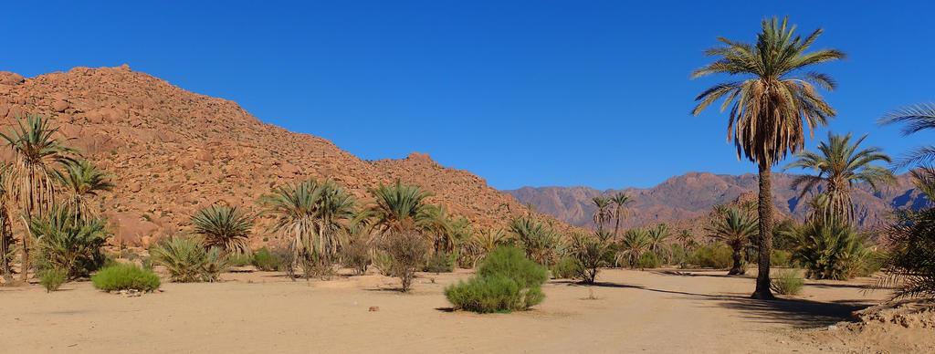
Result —
[[[476,276],[445,288],[445,297],[459,310],[525,310],[545,298],[541,286],[547,279],[545,267],[525,258],[523,251],[501,247],[484,259]]]

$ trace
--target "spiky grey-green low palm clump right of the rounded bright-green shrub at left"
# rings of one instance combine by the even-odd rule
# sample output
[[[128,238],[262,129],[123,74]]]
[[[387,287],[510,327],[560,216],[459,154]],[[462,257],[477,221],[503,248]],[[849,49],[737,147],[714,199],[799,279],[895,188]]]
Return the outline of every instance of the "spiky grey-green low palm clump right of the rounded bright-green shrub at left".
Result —
[[[172,281],[215,281],[227,268],[221,248],[206,248],[201,239],[172,237],[150,248],[152,262],[164,265]]]

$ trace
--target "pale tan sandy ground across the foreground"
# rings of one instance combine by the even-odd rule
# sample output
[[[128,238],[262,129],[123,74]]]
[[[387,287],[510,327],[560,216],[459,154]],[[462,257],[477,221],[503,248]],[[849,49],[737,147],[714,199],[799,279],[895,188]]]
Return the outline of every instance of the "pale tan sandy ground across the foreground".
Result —
[[[90,282],[68,283],[49,294],[38,286],[0,288],[0,352],[772,353],[906,348],[858,341],[856,334],[825,334],[832,332],[828,325],[887,296],[885,291],[865,292],[868,278],[810,281],[795,297],[763,302],[746,298],[752,278],[724,274],[604,270],[595,286],[553,280],[544,286],[545,301],[534,310],[491,315],[453,312],[442,295],[446,285],[470,276],[468,271],[420,274],[410,294],[399,293],[397,282],[383,276],[292,282],[265,272],[230,273],[212,284],[165,283],[162,293],[132,298],[94,290]],[[589,299],[592,295],[597,299]],[[370,306],[380,309],[371,312]],[[928,340],[935,341],[935,332],[922,335],[929,333]]]

